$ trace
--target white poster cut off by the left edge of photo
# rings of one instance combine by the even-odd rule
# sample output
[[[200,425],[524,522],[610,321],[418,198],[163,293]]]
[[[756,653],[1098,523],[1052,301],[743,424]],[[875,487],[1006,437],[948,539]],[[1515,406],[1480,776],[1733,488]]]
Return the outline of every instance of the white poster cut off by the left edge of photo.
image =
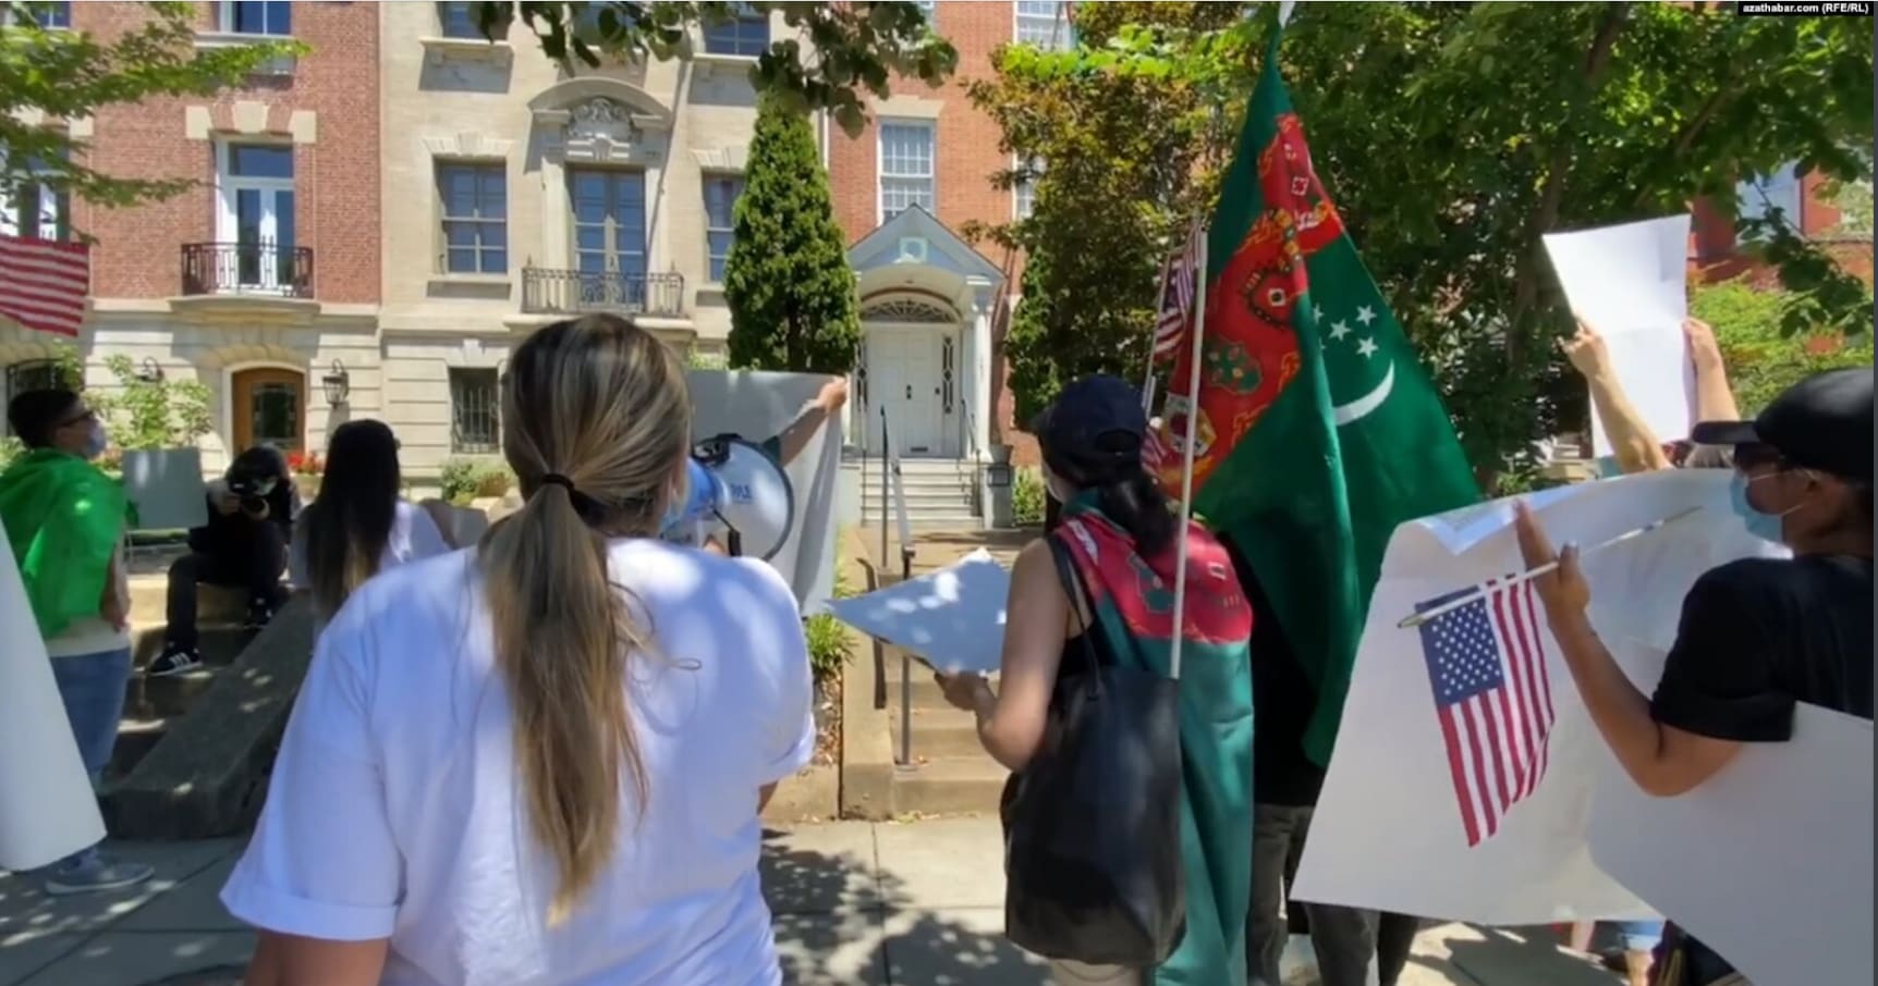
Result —
[[[36,870],[103,838],[105,819],[0,527],[0,870]]]

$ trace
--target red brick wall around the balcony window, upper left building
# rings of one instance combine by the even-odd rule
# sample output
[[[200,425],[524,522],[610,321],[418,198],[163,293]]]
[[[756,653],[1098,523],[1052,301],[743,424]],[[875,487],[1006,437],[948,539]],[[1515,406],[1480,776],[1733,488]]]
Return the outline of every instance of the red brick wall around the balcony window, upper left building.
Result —
[[[203,32],[220,26],[220,4],[195,4]],[[115,36],[139,22],[143,4],[73,4],[79,30]],[[379,300],[379,92],[374,4],[293,4],[293,37],[308,54],[291,73],[255,77],[210,97],[148,99],[98,112],[88,163],[122,178],[199,182],[173,199],[124,210],[79,202],[81,229],[98,238],[98,298],[180,294],[182,244],[214,242],[216,144],[190,139],[190,107],[207,107],[214,139],[287,142],[295,111],[316,114],[310,142],[297,142],[295,242],[312,247],[314,294],[329,304]],[[267,105],[263,133],[237,135],[235,103]],[[302,137],[304,141],[304,137]]]

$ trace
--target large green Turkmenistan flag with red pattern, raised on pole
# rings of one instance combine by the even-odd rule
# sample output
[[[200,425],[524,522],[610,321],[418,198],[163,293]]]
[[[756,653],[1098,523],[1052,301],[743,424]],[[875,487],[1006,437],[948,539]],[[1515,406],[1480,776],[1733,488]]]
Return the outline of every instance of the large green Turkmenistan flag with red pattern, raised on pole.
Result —
[[[1448,411],[1311,171],[1279,39],[1208,238],[1198,411],[1191,343],[1168,377],[1161,476],[1196,422],[1194,512],[1258,572],[1316,686],[1305,752],[1330,763],[1395,525],[1478,500]],[[1386,154],[1386,152],[1384,152]]]

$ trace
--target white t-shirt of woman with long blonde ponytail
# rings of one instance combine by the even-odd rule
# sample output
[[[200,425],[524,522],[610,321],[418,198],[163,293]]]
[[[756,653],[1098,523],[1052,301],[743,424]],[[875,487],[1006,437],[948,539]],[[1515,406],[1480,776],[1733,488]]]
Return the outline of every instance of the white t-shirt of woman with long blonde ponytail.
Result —
[[[473,549],[361,587],[327,626],[222,902],[259,928],[391,937],[385,986],[776,986],[757,789],[815,750],[783,577],[657,540],[610,547],[657,656],[627,688],[650,797],[560,926]],[[537,654],[535,660],[554,660]]]

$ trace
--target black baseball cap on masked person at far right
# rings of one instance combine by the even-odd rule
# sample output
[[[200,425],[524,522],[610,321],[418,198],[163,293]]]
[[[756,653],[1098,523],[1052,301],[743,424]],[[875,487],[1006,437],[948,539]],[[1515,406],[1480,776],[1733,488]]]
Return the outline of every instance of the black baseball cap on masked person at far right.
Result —
[[[1780,392],[1752,422],[1701,422],[1698,444],[1767,446],[1780,461],[1872,482],[1872,369],[1814,373]]]

